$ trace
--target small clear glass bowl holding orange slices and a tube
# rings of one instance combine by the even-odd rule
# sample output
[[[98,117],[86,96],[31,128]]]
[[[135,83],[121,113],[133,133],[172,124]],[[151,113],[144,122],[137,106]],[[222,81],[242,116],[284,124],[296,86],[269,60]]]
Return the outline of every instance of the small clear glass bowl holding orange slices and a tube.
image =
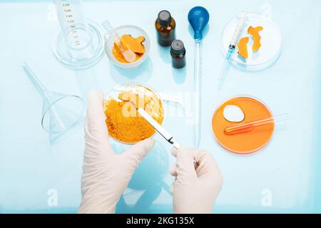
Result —
[[[123,35],[131,35],[135,38],[138,36],[145,37],[145,41],[143,41],[143,45],[145,46],[145,53],[141,58],[138,59],[138,61],[134,61],[133,63],[121,63],[119,62],[114,56],[113,56],[113,38],[111,36],[105,38],[105,52],[108,56],[108,58],[115,64],[116,66],[119,66],[121,68],[136,68],[141,65],[144,61],[146,61],[146,58],[148,57],[149,49],[151,48],[151,41],[148,38],[148,35],[143,29],[139,28],[138,26],[120,26],[115,28],[116,33],[119,37]]]

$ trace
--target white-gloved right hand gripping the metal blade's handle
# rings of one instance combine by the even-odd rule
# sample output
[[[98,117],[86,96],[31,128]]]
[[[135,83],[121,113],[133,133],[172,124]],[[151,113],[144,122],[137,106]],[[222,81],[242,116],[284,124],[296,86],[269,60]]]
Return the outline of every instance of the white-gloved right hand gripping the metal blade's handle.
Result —
[[[173,149],[176,165],[170,170],[174,213],[211,213],[223,177],[212,155],[205,150],[180,146]],[[194,160],[198,162],[195,169]]]

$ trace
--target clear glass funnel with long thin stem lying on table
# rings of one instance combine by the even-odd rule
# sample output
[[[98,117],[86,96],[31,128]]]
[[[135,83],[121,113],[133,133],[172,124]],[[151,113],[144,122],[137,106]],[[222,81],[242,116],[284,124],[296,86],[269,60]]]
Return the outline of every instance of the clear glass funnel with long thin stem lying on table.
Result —
[[[81,97],[46,90],[27,63],[22,68],[43,98],[41,126],[50,138],[51,134],[66,133],[80,123],[85,108]]]

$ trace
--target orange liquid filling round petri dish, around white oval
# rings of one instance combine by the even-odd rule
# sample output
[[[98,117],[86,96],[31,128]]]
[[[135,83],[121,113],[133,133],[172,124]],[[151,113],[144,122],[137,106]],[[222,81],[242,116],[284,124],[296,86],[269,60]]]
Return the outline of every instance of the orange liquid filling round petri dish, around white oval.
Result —
[[[244,113],[244,120],[230,122],[224,118],[223,110],[226,105],[236,105]],[[245,129],[243,133],[228,135],[224,133],[225,128],[250,121],[271,118],[270,110],[259,100],[248,97],[231,98],[220,105],[212,118],[212,129],[216,140],[226,150],[237,154],[249,154],[263,148],[272,137],[274,122]]]

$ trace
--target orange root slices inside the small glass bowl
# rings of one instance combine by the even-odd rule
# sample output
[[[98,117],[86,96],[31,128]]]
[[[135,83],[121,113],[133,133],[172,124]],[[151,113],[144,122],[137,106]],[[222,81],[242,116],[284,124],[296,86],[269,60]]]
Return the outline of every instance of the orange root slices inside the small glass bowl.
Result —
[[[121,36],[121,44],[124,48],[130,48],[136,54],[136,60],[143,56],[145,53],[145,46],[143,45],[145,38],[143,36],[138,36],[138,38],[133,38],[131,35]],[[117,43],[113,43],[113,56],[121,63],[128,63],[121,53],[121,49],[118,47]]]

